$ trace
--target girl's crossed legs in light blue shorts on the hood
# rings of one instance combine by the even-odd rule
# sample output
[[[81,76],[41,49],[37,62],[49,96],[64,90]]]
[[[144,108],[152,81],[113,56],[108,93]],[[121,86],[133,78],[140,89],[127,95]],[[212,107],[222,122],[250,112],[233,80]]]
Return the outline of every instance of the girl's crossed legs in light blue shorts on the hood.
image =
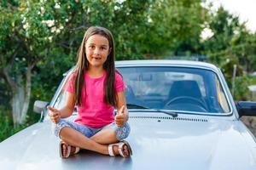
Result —
[[[75,122],[61,119],[55,126],[55,135],[60,137],[66,144],[76,146],[85,150],[93,150],[104,155],[109,155],[108,144],[113,144],[125,139],[130,133],[127,122],[123,127],[117,127],[113,122],[101,128],[86,127]],[[63,144],[63,155],[67,155],[67,146]],[[124,145],[123,153],[129,156],[131,153],[128,146]],[[119,148],[113,145],[113,154],[119,155]]]

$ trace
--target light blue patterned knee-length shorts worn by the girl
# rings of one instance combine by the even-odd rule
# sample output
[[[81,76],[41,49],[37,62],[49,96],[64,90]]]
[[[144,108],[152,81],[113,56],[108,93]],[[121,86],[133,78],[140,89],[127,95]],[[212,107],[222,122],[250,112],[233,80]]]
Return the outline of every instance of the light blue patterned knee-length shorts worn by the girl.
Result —
[[[94,136],[96,133],[100,132],[102,129],[108,129],[111,128],[113,129],[116,138],[118,140],[122,140],[128,137],[131,128],[130,125],[125,122],[123,127],[118,127],[115,122],[112,122],[108,125],[106,125],[105,127],[88,127],[85,125],[81,125],[79,123],[76,122],[71,122],[71,121],[67,121],[65,119],[61,119],[60,122],[58,122],[55,127],[54,127],[54,133],[56,137],[60,138],[60,132],[61,132],[61,128],[63,127],[71,127],[77,131],[79,131],[79,133],[83,133],[84,136],[86,136],[87,138],[90,138],[92,136]]]

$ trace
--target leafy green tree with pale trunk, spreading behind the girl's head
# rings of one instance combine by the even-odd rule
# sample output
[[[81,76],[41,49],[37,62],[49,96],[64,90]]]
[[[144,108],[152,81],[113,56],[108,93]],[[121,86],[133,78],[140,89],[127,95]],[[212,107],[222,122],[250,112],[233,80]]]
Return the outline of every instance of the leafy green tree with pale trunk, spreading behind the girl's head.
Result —
[[[140,53],[137,41],[129,38],[136,37],[143,27],[144,11],[150,2],[21,0],[1,3],[0,76],[9,84],[15,124],[25,122],[31,92],[37,97],[49,98],[45,92],[53,92],[55,77],[61,79],[60,74],[74,64],[84,31],[89,26],[105,26],[113,31],[117,37],[117,59],[136,59]],[[138,30],[135,25],[139,26]],[[36,82],[32,83],[32,78]]]

